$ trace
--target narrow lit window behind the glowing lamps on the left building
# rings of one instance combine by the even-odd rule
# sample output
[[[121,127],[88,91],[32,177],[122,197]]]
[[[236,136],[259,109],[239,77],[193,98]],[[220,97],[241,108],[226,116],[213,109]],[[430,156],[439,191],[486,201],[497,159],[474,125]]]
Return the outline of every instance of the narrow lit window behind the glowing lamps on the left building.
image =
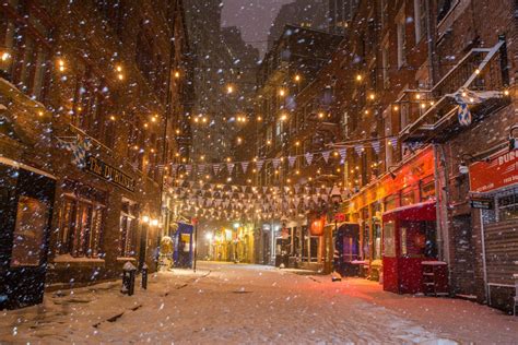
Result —
[[[132,258],[137,253],[138,214],[138,205],[130,200],[122,199],[119,234],[119,257],[121,258]]]

